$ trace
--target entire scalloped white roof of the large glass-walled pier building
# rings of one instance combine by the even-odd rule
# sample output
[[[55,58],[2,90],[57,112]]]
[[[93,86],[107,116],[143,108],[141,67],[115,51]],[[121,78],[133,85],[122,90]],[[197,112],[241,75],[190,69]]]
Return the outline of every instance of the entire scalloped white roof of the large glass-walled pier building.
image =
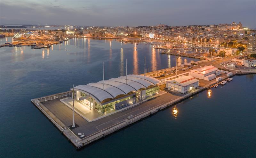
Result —
[[[127,84],[126,76],[120,76],[118,78],[111,78],[104,81],[104,88],[103,81],[99,81],[98,83],[89,83],[87,85],[76,86],[74,87],[74,90],[82,91],[85,94],[92,96],[98,102],[102,102],[105,99],[114,99],[118,95],[126,95],[131,91],[136,91],[141,88],[148,88],[149,86],[155,86],[159,83],[163,82],[153,77],[143,75],[127,75]]]

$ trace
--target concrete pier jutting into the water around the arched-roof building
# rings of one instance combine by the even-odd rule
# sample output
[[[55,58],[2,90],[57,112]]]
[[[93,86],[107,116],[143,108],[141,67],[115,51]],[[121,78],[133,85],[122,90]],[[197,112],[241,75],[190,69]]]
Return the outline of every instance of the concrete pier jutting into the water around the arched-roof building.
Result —
[[[179,71],[178,76],[186,74],[188,74],[188,70]],[[236,75],[236,73],[233,75]],[[220,76],[222,77],[222,80],[226,80],[230,77],[225,74],[225,71],[221,71]],[[166,76],[161,79],[161,81],[164,82],[170,78],[175,78],[175,75],[172,77]],[[212,86],[221,82],[217,82],[216,80],[198,80],[200,88],[189,93],[181,94],[174,91],[168,91],[165,89],[164,85],[161,85],[160,93],[153,98],[148,100],[138,100],[135,104],[93,121],[87,121],[81,114],[79,114],[79,111],[75,110],[76,127],[74,128],[71,127],[72,109],[61,101],[65,98],[70,98],[72,96],[72,91],[35,98],[32,99],[31,102],[60,130],[61,133],[67,137],[70,142],[72,142],[76,149],[80,149],[93,141],[99,140],[100,138],[114,133],[126,126],[130,126],[132,123],[140,121],[158,111],[172,106],[173,104],[177,104],[207,88],[212,88]],[[83,137],[78,133],[81,133]]]

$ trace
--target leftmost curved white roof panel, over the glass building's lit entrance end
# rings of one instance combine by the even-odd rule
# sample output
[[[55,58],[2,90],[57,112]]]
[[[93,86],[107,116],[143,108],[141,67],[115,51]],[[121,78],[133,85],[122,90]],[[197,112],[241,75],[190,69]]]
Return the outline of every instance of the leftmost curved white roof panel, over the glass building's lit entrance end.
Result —
[[[74,87],[74,90],[84,91],[89,95],[91,95],[92,97],[94,97],[94,99],[97,99],[99,102],[102,102],[107,98],[113,98],[108,92],[96,87],[88,86],[88,85],[76,86]]]

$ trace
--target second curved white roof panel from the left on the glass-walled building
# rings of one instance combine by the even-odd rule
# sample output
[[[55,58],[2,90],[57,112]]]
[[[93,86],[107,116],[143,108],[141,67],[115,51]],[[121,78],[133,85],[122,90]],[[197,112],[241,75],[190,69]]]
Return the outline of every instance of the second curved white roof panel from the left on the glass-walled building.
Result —
[[[103,83],[89,83],[86,85],[92,86],[92,87],[97,87],[97,88],[100,88],[101,90],[103,90]],[[105,84],[104,91],[108,92],[111,96],[113,96],[113,98],[115,98],[116,96],[118,96],[120,94],[125,95],[125,93],[122,90],[120,90],[114,86],[110,86],[108,84]]]

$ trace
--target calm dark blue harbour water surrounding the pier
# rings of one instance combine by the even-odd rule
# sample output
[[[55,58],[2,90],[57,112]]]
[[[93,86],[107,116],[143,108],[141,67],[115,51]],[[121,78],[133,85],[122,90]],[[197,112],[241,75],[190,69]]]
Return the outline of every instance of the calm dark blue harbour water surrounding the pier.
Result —
[[[0,39],[5,43],[7,39]],[[30,99],[175,66],[150,45],[71,39],[50,49],[0,48],[0,157],[255,157],[256,76],[203,91],[76,151]],[[179,63],[196,59],[180,58]],[[209,95],[211,94],[211,95]],[[177,111],[174,111],[177,110]]]

